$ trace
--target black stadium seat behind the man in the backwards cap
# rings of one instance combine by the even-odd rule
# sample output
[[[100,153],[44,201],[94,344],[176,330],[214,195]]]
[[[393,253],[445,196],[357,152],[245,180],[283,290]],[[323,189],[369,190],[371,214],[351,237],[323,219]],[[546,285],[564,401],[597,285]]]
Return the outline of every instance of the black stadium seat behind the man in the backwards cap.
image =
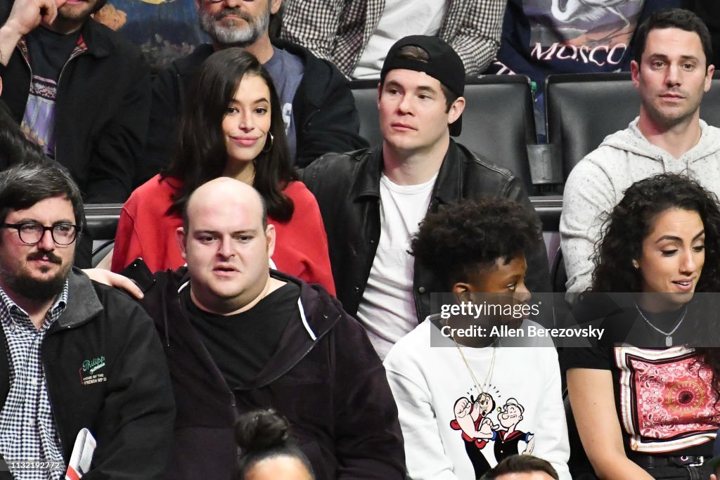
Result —
[[[382,142],[377,114],[377,81],[352,81],[360,113],[360,135]],[[456,141],[491,163],[510,169],[533,191],[527,145],[536,142],[530,80],[521,75],[467,78],[462,134]]]

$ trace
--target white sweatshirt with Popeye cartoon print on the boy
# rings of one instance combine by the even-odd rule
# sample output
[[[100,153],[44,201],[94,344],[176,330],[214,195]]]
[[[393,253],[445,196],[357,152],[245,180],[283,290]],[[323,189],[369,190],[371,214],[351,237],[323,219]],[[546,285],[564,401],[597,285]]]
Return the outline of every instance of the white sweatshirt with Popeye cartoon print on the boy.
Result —
[[[495,348],[495,366],[489,373],[493,348],[461,347],[480,382],[478,387],[495,403],[491,412],[478,417],[480,404],[473,404],[472,410],[469,407],[478,397],[477,388],[458,348],[451,339],[444,339],[444,346],[431,346],[431,329],[437,335],[437,327],[428,318],[397,342],[384,361],[397,403],[410,478],[476,479],[469,448],[473,454],[480,451],[490,467],[498,464],[496,456],[502,460],[515,449],[518,453],[527,450],[552,463],[560,478],[569,480],[570,447],[555,349],[500,345]],[[465,411],[456,415],[458,406],[465,404]],[[500,420],[506,404],[521,406],[519,422],[515,423],[518,417]],[[518,412],[517,407],[507,410]],[[462,418],[467,415],[474,422]],[[480,427],[483,417],[492,426]],[[515,441],[505,444],[503,438]]]

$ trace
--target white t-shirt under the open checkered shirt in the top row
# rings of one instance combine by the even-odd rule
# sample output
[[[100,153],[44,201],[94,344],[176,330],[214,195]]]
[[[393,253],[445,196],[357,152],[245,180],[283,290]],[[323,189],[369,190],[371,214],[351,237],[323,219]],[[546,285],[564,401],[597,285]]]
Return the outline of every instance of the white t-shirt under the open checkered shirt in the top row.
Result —
[[[446,1],[385,0],[375,31],[368,39],[353,78],[380,78],[385,55],[397,40],[408,35],[438,34],[447,10]]]

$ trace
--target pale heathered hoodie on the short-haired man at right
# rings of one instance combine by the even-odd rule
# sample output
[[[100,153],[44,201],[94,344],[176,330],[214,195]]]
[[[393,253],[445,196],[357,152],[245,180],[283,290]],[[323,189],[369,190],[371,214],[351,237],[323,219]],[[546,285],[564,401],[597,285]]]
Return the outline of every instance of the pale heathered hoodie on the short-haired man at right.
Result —
[[[720,195],[720,129],[700,121],[697,145],[680,158],[652,145],[637,127],[608,135],[572,169],[565,182],[560,217],[560,246],[567,270],[567,291],[590,286],[595,242],[606,212],[638,180],[658,173],[688,173],[709,191]]]

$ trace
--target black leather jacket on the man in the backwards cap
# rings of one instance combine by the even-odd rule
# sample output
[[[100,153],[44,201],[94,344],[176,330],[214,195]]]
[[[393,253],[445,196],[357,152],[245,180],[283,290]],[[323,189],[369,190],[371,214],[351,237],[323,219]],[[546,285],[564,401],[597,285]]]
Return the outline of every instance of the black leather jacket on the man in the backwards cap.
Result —
[[[330,264],[343,309],[356,316],[370,276],[380,238],[380,176],[382,146],[350,153],[329,153],[305,168],[302,180],[315,194],[328,232]],[[492,165],[462,145],[450,146],[433,187],[428,207],[466,198],[503,196],[534,209],[522,182],[505,168]],[[431,314],[431,292],[444,291],[440,279],[415,264],[413,281],[418,322]],[[526,284],[530,291],[551,291],[544,243],[528,257]]]

